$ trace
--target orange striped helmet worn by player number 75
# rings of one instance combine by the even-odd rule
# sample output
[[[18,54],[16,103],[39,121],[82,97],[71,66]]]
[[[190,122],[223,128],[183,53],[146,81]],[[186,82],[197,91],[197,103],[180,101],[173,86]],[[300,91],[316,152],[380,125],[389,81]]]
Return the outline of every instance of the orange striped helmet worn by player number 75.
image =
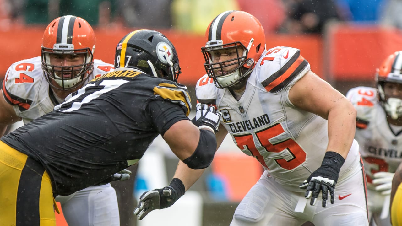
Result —
[[[253,15],[244,11],[231,10],[222,12],[209,24],[205,32],[207,43],[201,47],[205,59],[205,70],[219,88],[233,86],[240,79],[251,73],[258,59],[265,50],[263,26]],[[237,58],[213,63],[211,51],[236,47]],[[239,55],[238,48],[244,49]],[[233,60],[237,60],[234,63]],[[225,67],[238,64],[234,70]],[[217,74],[219,70],[221,73]]]

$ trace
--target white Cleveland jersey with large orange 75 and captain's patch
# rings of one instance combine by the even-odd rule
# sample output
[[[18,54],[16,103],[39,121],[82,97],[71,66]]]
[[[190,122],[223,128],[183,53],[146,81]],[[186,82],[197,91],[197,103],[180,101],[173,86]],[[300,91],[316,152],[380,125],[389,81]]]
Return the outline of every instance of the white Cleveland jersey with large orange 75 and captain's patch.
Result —
[[[198,101],[216,105],[240,150],[254,156],[279,184],[299,192],[298,186],[321,166],[328,144],[328,121],[289,101],[290,88],[308,71],[299,49],[275,47],[260,57],[239,101],[207,75],[196,85]],[[358,155],[354,141],[339,180]]]

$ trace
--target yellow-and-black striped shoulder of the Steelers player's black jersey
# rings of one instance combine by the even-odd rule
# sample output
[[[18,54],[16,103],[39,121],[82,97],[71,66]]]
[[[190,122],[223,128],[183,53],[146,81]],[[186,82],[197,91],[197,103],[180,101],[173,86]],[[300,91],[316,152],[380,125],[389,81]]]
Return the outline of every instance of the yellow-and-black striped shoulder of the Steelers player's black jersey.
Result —
[[[180,105],[189,116],[191,111],[191,99],[187,87],[176,82],[161,82],[154,87],[154,95],[166,101]]]

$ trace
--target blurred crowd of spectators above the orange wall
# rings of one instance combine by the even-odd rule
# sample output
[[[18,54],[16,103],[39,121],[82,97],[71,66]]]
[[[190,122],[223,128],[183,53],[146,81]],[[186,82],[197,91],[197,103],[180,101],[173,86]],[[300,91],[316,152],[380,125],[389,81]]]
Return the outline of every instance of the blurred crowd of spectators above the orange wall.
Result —
[[[328,21],[402,28],[401,0],[0,0],[0,29],[47,25],[66,14],[93,27],[147,27],[205,32],[225,10],[256,16],[267,33],[322,34]]]

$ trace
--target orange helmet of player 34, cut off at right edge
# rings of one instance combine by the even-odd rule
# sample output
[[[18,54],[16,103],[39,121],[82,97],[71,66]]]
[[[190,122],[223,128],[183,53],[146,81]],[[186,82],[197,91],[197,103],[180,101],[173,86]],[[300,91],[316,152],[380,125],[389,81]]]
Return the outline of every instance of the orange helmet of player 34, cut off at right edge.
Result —
[[[379,101],[384,110],[392,119],[402,117],[402,96],[391,97],[384,92],[386,83],[402,84],[402,51],[397,51],[389,55],[386,60],[377,68],[375,75]]]

